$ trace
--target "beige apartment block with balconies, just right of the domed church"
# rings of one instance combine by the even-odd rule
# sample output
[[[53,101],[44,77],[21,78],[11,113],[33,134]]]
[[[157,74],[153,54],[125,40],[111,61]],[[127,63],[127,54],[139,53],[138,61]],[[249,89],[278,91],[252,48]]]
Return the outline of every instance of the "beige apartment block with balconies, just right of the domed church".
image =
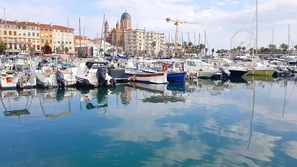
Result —
[[[158,55],[164,52],[164,34],[141,29],[124,31],[124,50],[126,53],[144,53],[148,56]]]

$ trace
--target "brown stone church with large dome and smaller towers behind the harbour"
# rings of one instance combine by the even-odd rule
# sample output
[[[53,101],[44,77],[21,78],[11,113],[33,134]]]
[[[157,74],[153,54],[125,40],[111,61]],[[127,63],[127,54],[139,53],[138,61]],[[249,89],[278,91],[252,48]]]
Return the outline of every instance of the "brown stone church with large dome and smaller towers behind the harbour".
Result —
[[[109,22],[106,19],[104,24],[105,40],[113,46],[124,47],[124,32],[131,29],[131,16],[127,11],[122,14],[120,22],[117,21],[115,28],[109,29]]]

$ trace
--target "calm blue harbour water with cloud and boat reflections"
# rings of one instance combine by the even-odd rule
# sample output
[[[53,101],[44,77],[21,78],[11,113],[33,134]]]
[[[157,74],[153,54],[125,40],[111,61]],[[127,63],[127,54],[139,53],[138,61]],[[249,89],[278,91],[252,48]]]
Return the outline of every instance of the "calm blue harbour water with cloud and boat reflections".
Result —
[[[0,167],[296,167],[296,87],[249,77],[2,91]]]

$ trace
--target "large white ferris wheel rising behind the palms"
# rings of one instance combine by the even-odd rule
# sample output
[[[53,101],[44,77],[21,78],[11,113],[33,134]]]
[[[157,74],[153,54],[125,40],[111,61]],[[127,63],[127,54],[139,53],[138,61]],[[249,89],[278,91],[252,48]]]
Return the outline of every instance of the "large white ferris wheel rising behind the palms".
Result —
[[[237,30],[230,41],[231,49],[238,48],[238,47],[246,47],[248,51],[250,48],[255,48],[255,36],[254,34],[248,29],[240,29]]]

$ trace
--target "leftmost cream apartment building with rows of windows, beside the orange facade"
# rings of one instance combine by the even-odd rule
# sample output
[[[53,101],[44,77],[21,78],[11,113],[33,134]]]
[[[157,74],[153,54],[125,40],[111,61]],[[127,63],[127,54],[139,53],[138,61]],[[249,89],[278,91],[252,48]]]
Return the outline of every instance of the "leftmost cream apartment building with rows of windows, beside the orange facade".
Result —
[[[40,23],[32,20],[5,21],[0,19],[0,42],[6,43],[9,55],[28,52],[34,47],[36,53],[40,52]]]

